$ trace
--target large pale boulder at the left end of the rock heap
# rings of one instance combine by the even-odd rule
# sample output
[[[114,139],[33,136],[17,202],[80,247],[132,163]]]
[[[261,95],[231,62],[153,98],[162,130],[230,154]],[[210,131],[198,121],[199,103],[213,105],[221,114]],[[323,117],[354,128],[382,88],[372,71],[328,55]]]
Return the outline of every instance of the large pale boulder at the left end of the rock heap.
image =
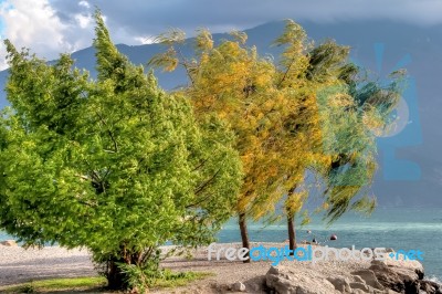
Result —
[[[292,272],[290,267],[271,266],[265,275],[270,293],[278,294],[338,294],[335,286],[315,270]]]

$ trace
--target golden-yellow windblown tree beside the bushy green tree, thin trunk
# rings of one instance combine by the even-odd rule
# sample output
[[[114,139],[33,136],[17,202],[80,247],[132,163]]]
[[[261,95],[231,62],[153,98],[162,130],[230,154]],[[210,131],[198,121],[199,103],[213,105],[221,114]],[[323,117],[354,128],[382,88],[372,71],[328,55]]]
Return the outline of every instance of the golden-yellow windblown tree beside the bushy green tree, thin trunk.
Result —
[[[267,214],[282,198],[284,187],[301,181],[308,161],[308,141],[315,135],[311,125],[317,120],[317,105],[313,87],[295,88],[306,81],[288,78],[304,71],[306,57],[280,76],[270,60],[245,45],[244,33],[232,35],[233,40],[213,48],[210,33],[200,31],[196,38],[197,60],[187,60],[177,48],[183,35],[172,31],[158,39],[170,48],[150,64],[169,71],[183,65],[190,80],[183,93],[191,97],[197,117],[204,119],[214,114],[235,133],[244,171],[236,213],[243,246],[249,248],[246,218]]]

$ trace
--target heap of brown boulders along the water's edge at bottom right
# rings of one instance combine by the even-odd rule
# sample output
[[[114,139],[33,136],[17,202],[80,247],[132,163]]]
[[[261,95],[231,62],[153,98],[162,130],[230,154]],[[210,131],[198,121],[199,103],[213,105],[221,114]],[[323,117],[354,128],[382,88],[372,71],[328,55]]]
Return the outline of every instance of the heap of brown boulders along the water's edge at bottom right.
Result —
[[[417,261],[373,260],[369,269],[335,274],[314,266],[299,271],[278,265],[270,267],[262,288],[276,294],[442,294],[442,286],[422,276],[423,266]]]

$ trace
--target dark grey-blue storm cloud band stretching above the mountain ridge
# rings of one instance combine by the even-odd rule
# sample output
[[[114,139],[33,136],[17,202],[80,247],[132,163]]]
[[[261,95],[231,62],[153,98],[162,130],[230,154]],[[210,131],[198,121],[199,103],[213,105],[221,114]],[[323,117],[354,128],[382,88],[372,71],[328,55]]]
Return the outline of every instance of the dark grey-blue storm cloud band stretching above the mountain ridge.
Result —
[[[52,1],[60,18],[84,12],[80,1]],[[106,1],[91,0],[107,17],[113,31],[130,35],[158,34],[169,27],[187,32],[204,27],[212,31],[245,29],[267,21],[292,18],[330,22],[360,19],[391,19],[420,24],[442,22],[440,0],[164,0],[164,1]]]

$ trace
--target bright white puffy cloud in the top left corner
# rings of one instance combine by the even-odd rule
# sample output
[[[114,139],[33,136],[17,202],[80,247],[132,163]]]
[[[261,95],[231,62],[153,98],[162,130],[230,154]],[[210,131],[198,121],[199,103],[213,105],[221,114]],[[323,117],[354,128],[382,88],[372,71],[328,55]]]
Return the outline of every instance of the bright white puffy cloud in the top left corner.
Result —
[[[88,8],[86,1],[78,6]],[[49,0],[7,0],[0,3],[2,38],[17,48],[30,48],[33,53],[53,60],[60,53],[73,52],[92,43],[93,18],[88,11],[63,21]],[[6,50],[0,45],[0,70],[7,67]]]

